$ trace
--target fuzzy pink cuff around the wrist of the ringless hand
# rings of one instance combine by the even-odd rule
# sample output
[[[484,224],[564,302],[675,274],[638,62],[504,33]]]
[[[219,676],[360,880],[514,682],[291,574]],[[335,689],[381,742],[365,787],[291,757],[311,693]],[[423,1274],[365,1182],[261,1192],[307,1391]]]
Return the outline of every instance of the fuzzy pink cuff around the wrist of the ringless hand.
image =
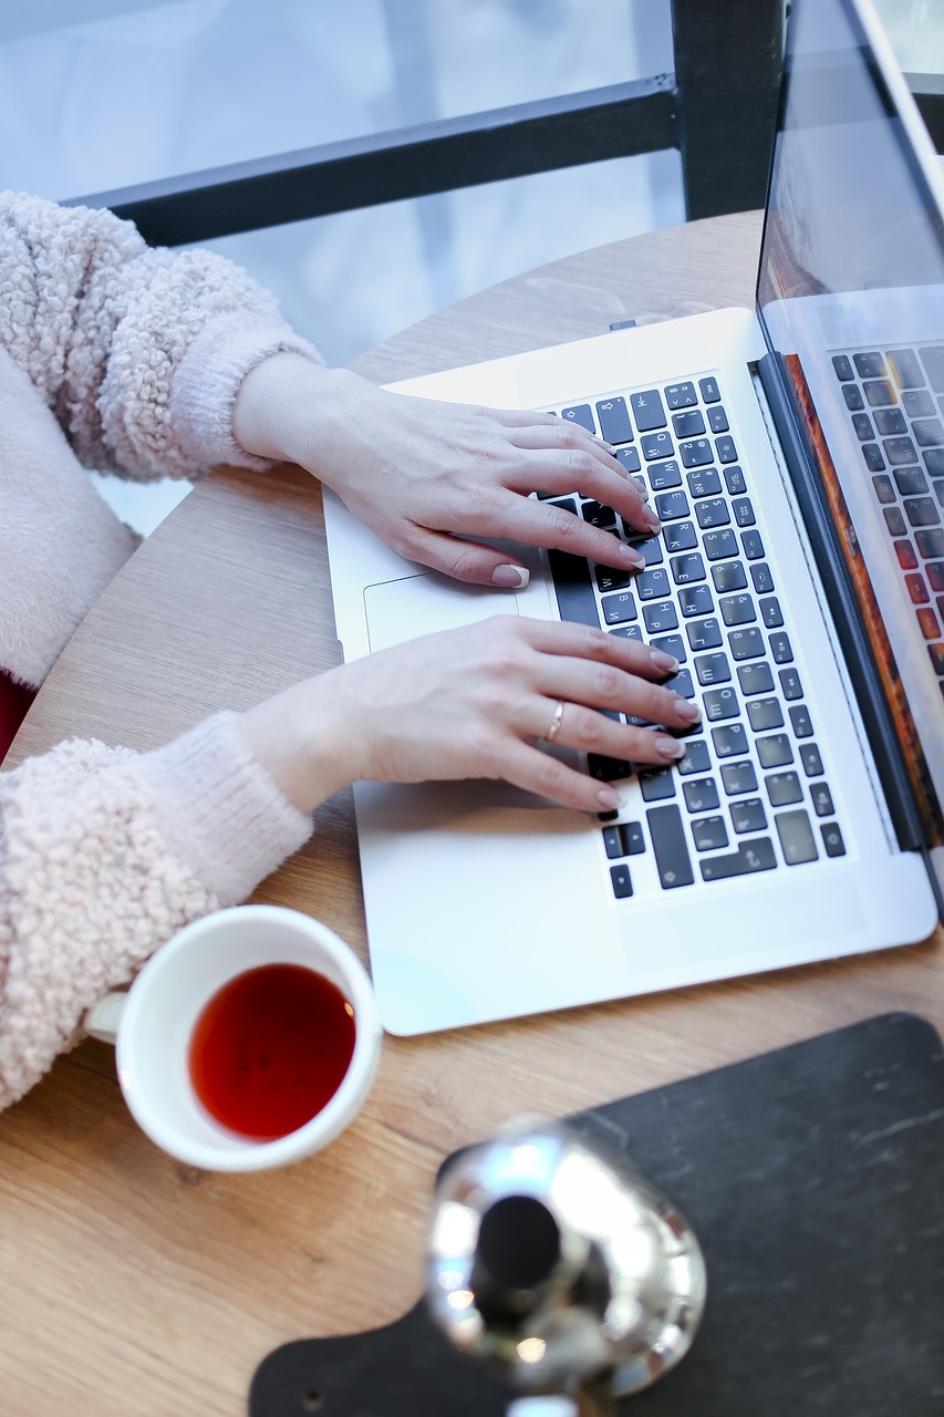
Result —
[[[191,341],[174,373],[170,422],[181,452],[201,470],[227,463],[268,472],[271,458],[257,458],[232,436],[232,411],[240,384],[271,354],[303,354],[323,364],[318,350],[288,324],[247,323],[245,316],[211,320]]]

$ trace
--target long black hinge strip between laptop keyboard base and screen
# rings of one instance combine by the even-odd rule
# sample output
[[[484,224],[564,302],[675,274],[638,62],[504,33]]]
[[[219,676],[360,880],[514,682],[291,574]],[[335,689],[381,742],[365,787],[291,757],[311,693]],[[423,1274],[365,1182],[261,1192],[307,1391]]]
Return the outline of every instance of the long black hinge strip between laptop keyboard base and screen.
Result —
[[[862,723],[884,791],[894,835],[903,852],[924,850],[921,819],[901,748],[882,691],[876,659],[862,626],[849,570],[835,534],[822,483],[811,470],[780,354],[765,354],[757,363],[764,394],[777,428],[791,483],[807,536],[816,558],[826,601],[842,646],[846,670],[856,694]]]

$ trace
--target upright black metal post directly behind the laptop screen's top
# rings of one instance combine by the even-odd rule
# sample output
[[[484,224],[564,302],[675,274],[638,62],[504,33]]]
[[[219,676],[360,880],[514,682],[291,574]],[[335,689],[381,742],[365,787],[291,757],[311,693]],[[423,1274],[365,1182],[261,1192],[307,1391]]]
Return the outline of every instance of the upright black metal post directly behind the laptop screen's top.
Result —
[[[784,0],[672,0],[678,147],[689,221],[763,207]]]

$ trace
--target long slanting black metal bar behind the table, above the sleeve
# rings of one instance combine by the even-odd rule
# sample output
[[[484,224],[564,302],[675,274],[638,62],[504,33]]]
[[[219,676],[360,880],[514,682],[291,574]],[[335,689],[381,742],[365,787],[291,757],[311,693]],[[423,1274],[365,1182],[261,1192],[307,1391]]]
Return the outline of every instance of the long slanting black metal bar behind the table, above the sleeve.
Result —
[[[755,0],[760,4],[760,0]],[[183,245],[676,146],[672,75],[71,198]]]

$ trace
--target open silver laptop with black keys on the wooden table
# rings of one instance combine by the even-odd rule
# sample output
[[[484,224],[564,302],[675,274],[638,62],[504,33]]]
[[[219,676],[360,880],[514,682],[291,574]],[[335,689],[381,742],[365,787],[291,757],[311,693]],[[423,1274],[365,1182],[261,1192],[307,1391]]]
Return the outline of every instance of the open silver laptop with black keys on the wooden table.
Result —
[[[397,384],[611,441],[662,531],[638,575],[527,550],[529,587],[405,561],[326,490],[344,656],[495,614],[680,660],[678,767],[585,758],[618,812],[357,784],[397,1034],[926,938],[944,900],[944,181],[869,0],[794,0],[755,312]],[[575,489],[563,502],[624,534]],[[631,529],[632,533],[632,529]],[[638,536],[638,533],[632,533]],[[520,550],[520,548],[519,548]]]

